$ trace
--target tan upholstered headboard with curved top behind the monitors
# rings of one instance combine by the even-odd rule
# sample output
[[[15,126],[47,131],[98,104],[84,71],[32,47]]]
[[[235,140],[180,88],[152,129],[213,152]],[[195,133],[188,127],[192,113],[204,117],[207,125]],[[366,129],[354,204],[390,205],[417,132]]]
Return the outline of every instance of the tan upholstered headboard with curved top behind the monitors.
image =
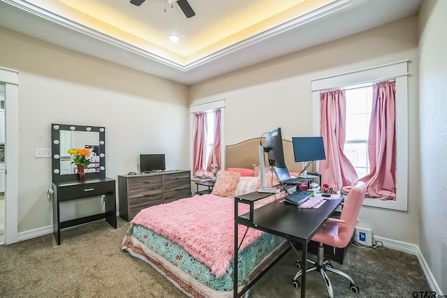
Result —
[[[260,140],[263,146],[265,146],[265,137],[262,137],[261,139],[256,137],[254,139],[249,139],[237,144],[226,146],[225,168],[244,167],[247,169],[252,169],[254,165],[259,165],[258,147],[260,145]],[[286,161],[288,171],[301,172],[302,163],[295,163],[292,142],[283,139],[282,145],[284,147],[284,160]],[[265,154],[265,166],[269,166],[267,154]]]

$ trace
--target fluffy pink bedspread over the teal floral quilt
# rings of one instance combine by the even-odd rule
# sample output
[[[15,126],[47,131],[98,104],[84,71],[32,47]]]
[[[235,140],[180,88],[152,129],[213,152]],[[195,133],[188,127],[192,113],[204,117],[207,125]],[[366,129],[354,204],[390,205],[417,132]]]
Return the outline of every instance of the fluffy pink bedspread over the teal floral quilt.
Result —
[[[240,214],[249,211],[239,204]],[[234,201],[214,195],[200,195],[169,204],[143,209],[132,223],[154,230],[163,237],[182,245],[185,251],[210,267],[219,278],[234,257]],[[238,243],[247,228],[239,227]],[[241,250],[262,234],[249,228]]]

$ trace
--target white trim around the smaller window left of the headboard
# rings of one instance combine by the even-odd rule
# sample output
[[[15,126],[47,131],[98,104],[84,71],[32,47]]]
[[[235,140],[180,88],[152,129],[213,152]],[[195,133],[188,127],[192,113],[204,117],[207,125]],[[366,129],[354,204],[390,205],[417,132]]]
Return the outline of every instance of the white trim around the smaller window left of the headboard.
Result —
[[[193,169],[194,155],[194,114],[221,110],[221,167],[225,167],[225,100],[213,100],[189,106],[189,167]]]

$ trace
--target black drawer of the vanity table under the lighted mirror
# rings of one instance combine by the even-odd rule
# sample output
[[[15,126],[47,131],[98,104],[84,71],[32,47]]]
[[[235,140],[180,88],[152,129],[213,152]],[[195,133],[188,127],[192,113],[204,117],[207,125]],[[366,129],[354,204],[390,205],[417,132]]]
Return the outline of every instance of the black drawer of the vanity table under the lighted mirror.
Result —
[[[59,202],[89,198],[115,192],[115,181],[104,181],[86,184],[74,184],[57,187],[57,200]]]

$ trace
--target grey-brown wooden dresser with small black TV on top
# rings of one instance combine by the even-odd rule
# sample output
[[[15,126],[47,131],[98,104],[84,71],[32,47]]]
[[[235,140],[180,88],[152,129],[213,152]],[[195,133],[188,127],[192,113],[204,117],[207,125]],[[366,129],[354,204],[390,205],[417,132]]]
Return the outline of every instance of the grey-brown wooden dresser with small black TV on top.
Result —
[[[191,197],[191,171],[119,175],[119,216],[126,221],[141,209]]]

